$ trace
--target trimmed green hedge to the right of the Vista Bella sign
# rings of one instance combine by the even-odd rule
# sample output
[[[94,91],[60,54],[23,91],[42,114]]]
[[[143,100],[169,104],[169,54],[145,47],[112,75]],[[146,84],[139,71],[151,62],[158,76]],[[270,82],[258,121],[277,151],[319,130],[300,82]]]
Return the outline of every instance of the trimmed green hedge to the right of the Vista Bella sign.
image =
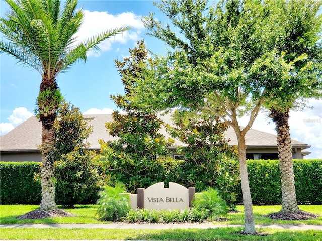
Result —
[[[247,169],[253,204],[282,203],[278,160],[248,160]],[[322,160],[293,160],[298,204],[322,204]],[[234,190],[237,202],[243,202],[240,185]]]

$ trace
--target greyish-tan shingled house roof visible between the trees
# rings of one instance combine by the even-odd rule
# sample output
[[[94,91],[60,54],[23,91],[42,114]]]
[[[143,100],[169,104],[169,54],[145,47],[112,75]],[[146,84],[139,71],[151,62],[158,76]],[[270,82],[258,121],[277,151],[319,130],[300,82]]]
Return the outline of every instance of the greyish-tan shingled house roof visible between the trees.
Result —
[[[170,114],[159,116],[163,119],[165,123],[171,123]],[[103,139],[105,141],[113,141],[116,140],[117,137],[112,137],[109,135],[106,130],[105,123],[113,121],[111,114],[91,114],[84,115],[84,118],[89,121],[89,124],[93,126],[93,133],[87,139],[90,143],[91,149],[100,149],[100,144],[98,142],[99,139]],[[265,127],[263,127],[265,128]],[[160,130],[160,133],[169,137],[169,134],[166,132],[164,128]],[[228,128],[225,132],[229,145],[237,145],[237,138],[232,128]],[[266,133],[263,131],[258,131],[254,129],[250,129],[246,136],[246,146],[252,148],[276,148],[276,135]],[[36,151],[39,150],[38,146],[41,144],[41,123],[36,117],[30,117],[7,133],[4,136],[0,136],[0,151],[1,152],[18,152],[18,151]],[[184,143],[179,140],[175,140],[176,145],[184,145]],[[293,148],[301,148],[306,149],[309,148],[306,143],[292,140]]]

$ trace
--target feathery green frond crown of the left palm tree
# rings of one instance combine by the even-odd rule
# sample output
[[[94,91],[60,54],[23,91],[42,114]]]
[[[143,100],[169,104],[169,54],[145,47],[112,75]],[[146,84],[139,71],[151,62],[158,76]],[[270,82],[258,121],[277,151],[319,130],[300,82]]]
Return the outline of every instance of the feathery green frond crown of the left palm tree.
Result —
[[[10,7],[0,18],[1,52],[13,55],[38,72],[55,77],[77,60],[86,61],[90,49],[99,50],[105,39],[130,29],[128,26],[108,30],[74,47],[76,33],[84,14],[76,11],[77,0],[66,0],[60,12],[60,0],[5,0]]]

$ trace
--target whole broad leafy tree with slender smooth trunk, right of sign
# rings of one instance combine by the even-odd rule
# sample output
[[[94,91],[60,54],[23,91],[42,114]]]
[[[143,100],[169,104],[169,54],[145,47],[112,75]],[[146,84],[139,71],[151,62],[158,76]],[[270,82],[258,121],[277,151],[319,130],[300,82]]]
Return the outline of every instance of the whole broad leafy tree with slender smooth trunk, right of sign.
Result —
[[[222,0],[211,5],[201,0],[164,0],[156,6],[171,25],[160,23],[153,14],[144,22],[149,34],[172,49],[166,57],[157,58],[154,78],[145,79],[133,90],[138,93],[135,101],[155,109],[203,108],[234,129],[246,231],[250,233],[255,228],[245,135],[263,104],[282,98],[279,93],[285,91],[283,88],[293,85],[293,70],[306,58],[304,53],[294,56],[279,48],[288,38],[285,33],[293,33],[296,28],[288,21],[292,20],[290,13],[281,8],[293,2]],[[304,74],[313,65],[314,61],[307,61],[298,70]],[[314,87],[309,80],[305,84]],[[245,127],[238,123],[240,116],[249,116]]]

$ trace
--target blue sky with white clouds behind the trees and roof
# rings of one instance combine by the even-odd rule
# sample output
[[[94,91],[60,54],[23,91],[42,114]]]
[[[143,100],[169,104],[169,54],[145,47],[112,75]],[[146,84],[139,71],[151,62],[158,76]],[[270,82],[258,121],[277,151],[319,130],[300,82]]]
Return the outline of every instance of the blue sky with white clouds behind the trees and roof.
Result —
[[[163,14],[152,1],[79,1],[85,12],[85,21],[79,38],[86,38],[103,30],[122,25],[133,26],[129,32],[112,37],[100,47],[99,54],[91,53],[87,62],[76,63],[67,73],[57,77],[57,83],[67,101],[81,108],[83,113],[110,113],[116,107],[110,95],[123,93],[123,85],[114,60],[123,60],[137,41],[144,39],[149,50],[166,53],[164,44],[146,35],[141,16],[155,12],[162,21]],[[1,16],[8,10],[0,0]],[[41,76],[37,71],[17,64],[6,54],[0,55],[0,135],[5,135],[33,115]],[[322,100],[311,100],[313,109],[290,114],[291,137],[312,147],[306,158],[322,158]],[[261,113],[253,128],[276,134],[274,124]],[[240,119],[245,125],[247,118]]]

